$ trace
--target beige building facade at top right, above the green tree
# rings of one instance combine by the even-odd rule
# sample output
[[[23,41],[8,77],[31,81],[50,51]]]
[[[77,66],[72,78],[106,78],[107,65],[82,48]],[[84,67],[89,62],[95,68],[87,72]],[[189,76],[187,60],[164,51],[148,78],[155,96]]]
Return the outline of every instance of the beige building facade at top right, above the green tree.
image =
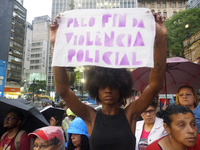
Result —
[[[138,0],[138,7],[154,9],[166,18],[186,9],[187,0]]]

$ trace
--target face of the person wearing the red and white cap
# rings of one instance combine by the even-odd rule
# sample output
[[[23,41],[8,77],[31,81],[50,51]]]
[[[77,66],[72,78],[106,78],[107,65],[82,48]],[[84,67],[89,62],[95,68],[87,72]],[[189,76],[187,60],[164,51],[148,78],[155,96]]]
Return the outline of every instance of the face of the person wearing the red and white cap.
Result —
[[[34,141],[33,150],[59,150],[60,146],[53,145],[49,141],[45,141],[37,137]]]

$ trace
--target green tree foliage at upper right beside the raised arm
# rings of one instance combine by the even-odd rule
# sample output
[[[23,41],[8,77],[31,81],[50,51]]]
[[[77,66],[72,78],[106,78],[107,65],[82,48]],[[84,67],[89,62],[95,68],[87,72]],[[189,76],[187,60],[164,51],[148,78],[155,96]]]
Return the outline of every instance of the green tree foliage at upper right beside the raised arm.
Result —
[[[200,29],[200,8],[181,11],[165,21],[168,31],[167,48],[172,56],[183,56],[183,40],[187,38],[186,24],[189,24],[189,35]]]

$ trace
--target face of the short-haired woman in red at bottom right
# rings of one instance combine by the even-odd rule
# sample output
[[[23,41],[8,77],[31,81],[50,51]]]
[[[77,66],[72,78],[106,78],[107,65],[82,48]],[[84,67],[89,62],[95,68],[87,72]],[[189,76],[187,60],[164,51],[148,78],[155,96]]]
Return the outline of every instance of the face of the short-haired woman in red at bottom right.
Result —
[[[192,113],[178,113],[170,116],[172,122],[166,128],[172,140],[185,147],[194,146],[197,140],[198,129]]]

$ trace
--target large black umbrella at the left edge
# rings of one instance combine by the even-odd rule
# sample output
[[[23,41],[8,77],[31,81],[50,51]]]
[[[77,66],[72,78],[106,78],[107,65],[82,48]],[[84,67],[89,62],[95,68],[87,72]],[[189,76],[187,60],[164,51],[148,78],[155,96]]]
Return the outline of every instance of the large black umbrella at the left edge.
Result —
[[[12,108],[20,109],[24,114],[21,129],[29,132],[33,132],[37,128],[41,128],[49,125],[48,121],[39,112],[39,110],[30,105],[26,105],[17,99],[0,98],[0,124],[3,125],[3,121],[8,111]]]

